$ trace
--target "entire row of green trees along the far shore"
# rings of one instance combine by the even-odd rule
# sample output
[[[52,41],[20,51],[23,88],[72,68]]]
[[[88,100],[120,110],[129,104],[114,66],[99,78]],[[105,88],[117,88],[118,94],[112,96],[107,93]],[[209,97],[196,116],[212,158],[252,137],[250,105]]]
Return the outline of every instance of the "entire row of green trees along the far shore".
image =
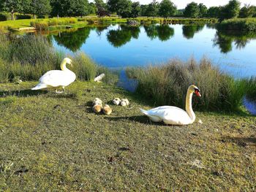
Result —
[[[191,2],[184,9],[177,9],[170,0],[151,1],[150,4],[140,4],[131,0],[0,0],[0,11],[10,12],[12,20],[14,13],[41,15],[51,17],[74,17],[99,15],[99,17],[116,14],[121,18],[146,17],[186,17],[186,18],[249,18],[256,17],[256,7],[244,5],[238,0],[230,0],[225,6],[209,7]]]

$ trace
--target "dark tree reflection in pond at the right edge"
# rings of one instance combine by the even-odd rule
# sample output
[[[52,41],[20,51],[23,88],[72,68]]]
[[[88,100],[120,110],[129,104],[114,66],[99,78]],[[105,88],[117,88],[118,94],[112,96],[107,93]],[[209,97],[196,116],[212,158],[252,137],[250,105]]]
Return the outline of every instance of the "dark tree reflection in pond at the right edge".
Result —
[[[256,33],[238,33],[236,31],[217,31],[214,37],[214,46],[219,46],[222,53],[232,50],[233,42],[236,49],[243,49],[252,40],[256,39]]]

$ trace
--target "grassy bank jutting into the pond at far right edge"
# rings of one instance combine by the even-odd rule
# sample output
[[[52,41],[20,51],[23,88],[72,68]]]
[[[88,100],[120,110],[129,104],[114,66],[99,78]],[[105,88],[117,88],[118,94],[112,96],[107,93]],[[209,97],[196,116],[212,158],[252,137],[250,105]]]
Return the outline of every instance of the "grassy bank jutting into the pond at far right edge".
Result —
[[[256,18],[236,18],[223,20],[218,28],[234,31],[256,31]]]

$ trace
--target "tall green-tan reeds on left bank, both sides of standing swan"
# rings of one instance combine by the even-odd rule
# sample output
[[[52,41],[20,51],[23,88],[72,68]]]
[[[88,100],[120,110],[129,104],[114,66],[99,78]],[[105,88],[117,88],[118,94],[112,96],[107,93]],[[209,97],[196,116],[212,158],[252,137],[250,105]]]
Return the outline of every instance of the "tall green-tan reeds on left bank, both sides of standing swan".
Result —
[[[68,56],[77,74],[78,80],[93,80],[100,73],[108,74],[105,82],[117,82],[116,74],[98,66],[84,53],[64,55],[55,50],[50,39],[42,36],[27,35],[22,37],[0,36],[0,82],[14,79],[38,80],[45,72],[60,69],[61,60]]]

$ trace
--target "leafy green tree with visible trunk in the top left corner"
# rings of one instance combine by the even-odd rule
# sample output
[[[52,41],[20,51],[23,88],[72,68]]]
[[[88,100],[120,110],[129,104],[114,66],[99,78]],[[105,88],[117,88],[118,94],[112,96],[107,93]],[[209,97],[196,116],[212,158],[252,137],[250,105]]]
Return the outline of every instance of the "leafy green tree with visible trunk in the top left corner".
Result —
[[[26,12],[29,9],[29,0],[0,0],[1,10],[10,12],[15,20],[15,12]]]

